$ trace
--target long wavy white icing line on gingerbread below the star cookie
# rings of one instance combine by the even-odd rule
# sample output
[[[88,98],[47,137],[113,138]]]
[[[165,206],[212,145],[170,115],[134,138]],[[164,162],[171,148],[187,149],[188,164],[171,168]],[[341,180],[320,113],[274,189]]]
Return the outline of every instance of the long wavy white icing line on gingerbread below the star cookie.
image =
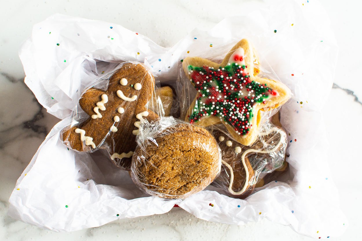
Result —
[[[241,189],[240,191],[238,192],[235,192],[232,190],[232,184],[234,182],[234,172],[232,170],[232,167],[224,160],[221,160],[222,163],[227,166],[227,168],[230,170],[230,184],[229,184],[229,188],[228,188],[228,191],[229,193],[233,194],[233,195],[240,195],[242,193],[245,192],[245,190],[247,189],[248,187],[248,183],[249,183],[249,170],[248,170],[248,166],[247,164],[245,163],[245,156],[250,153],[250,152],[255,152],[255,153],[262,153],[262,154],[267,154],[267,153],[270,153],[270,152],[274,152],[276,151],[280,144],[282,143],[282,140],[284,139],[285,137],[285,132],[281,131],[281,129],[277,128],[277,127],[273,127],[271,128],[269,131],[267,132],[260,132],[260,135],[261,136],[266,136],[266,135],[269,135],[271,132],[277,132],[279,133],[280,135],[280,140],[278,142],[277,145],[275,145],[275,147],[269,151],[260,151],[260,150],[256,150],[256,149],[247,149],[245,152],[243,152],[243,154],[241,155],[241,161],[243,162],[243,166],[244,166],[244,169],[245,169],[245,174],[246,174],[246,178],[245,178],[245,183],[244,183],[244,187],[243,189]]]

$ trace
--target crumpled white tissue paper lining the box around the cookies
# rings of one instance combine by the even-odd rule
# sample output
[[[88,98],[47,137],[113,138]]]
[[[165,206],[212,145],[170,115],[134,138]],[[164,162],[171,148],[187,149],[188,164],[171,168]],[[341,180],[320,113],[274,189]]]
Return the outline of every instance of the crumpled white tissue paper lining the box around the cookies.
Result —
[[[320,112],[332,87],[338,47],[317,2],[266,2],[209,31],[195,29],[171,48],[108,22],[56,14],[36,24],[20,50],[25,83],[49,113],[63,120],[18,179],[9,215],[64,232],[165,213],[177,204],[200,219],[219,223],[240,225],[267,218],[314,238],[340,236],[347,221],[328,168]],[[163,200],[138,190],[128,172],[106,155],[68,150],[60,141],[59,132],[69,123],[80,93],[115,63],[145,62],[161,82],[176,80],[181,59],[222,60],[242,38],[249,39],[294,95],[281,108],[281,122],[290,134],[289,180],[271,182],[245,200],[212,187],[185,200]]]

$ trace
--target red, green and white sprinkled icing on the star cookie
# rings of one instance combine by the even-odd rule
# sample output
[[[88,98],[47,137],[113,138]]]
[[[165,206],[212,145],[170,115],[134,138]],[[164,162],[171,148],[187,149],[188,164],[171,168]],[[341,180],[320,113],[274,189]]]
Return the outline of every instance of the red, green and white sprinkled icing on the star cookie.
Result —
[[[248,66],[240,65],[244,62],[243,56],[232,57],[235,62],[218,69],[189,65],[190,81],[199,92],[189,118],[190,123],[194,123],[203,116],[214,115],[233,126],[237,134],[246,135],[252,127],[253,106],[265,103],[278,93],[267,84],[250,80],[246,72]]]

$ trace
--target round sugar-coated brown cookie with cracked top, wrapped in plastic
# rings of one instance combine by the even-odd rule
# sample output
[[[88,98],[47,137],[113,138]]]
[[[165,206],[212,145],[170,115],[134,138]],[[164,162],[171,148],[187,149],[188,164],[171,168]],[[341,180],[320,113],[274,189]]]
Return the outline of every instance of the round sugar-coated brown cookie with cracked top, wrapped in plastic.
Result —
[[[221,153],[205,129],[177,124],[137,147],[131,177],[146,193],[186,198],[205,189],[220,173]]]

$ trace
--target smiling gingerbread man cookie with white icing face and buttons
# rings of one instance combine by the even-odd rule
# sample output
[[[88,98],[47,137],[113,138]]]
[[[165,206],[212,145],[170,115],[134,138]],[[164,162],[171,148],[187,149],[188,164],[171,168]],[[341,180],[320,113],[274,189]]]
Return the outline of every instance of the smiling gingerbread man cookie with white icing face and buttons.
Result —
[[[80,152],[107,149],[117,166],[130,169],[140,120],[158,118],[145,107],[154,89],[155,79],[143,64],[123,64],[106,91],[90,88],[81,96],[79,105],[89,119],[64,128],[63,142]]]

